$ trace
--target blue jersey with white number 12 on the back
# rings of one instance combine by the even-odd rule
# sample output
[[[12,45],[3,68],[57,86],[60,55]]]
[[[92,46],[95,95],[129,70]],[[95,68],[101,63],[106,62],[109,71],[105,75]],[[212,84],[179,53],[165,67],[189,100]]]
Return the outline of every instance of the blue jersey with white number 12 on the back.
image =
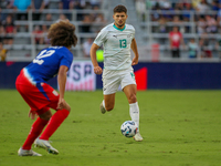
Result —
[[[72,61],[73,54],[67,48],[50,46],[40,51],[24,72],[33,84],[46,82],[57,74],[61,65],[70,69]]]

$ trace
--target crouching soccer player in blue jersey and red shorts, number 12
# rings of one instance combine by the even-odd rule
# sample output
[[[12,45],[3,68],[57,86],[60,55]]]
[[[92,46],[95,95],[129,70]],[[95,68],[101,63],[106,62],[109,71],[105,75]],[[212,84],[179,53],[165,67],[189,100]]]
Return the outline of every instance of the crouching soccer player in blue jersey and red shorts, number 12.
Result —
[[[51,46],[40,51],[32,63],[21,70],[15,81],[17,90],[30,106],[29,116],[31,118],[39,116],[24,144],[18,151],[19,156],[42,156],[31,149],[33,143],[51,154],[59,154],[59,151],[49,143],[49,138],[71,111],[64,100],[64,92],[66,72],[73,61],[70,49],[77,43],[75,27],[69,21],[56,22],[50,27],[48,38]],[[60,94],[46,83],[55,75],[57,75]],[[56,112],[52,115],[50,108]]]

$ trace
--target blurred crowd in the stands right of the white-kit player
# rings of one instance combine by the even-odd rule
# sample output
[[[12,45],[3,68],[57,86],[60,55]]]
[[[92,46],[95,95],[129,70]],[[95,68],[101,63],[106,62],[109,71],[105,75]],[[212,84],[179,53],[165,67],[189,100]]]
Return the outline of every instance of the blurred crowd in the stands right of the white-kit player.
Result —
[[[197,37],[197,40],[185,39],[190,52],[189,45],[194,43],[194,50],[200,50],[199,56],[212,58],[212,50],[220,54],[221,40],[217,34],[221,32],[221,0],[135,0],[135,6],[143,22],[147,21],[146,11],[151,10],[152,33],[167,34],[178,27],[182,35]],[[157,41],[162,45],[167,42],[164,38]]]

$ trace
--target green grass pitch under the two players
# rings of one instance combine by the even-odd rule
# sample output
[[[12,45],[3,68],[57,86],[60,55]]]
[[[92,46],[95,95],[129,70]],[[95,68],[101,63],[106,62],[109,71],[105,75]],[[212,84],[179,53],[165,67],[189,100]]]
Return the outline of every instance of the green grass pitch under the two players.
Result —
[[[143,142],[120,133],[130,120],[123,92],[115,108],[99,113],[102,91],[67,92],[72,111],[55,134],[52,145],[60,151],[42,157],[20,157],[33,123],[29,106],[15,90],[0,90],[0,166],[220,166],[221,91],[141,91]]]

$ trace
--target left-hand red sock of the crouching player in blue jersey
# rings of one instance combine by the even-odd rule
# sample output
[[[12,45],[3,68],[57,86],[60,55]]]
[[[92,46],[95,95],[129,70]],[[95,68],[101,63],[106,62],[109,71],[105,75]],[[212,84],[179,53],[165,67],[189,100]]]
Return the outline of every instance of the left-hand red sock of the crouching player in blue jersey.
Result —
[[[35,138],[41,134],[44,126],[48,124],[49,121],[42,120],[40,117],[32,124],[31,131],[22,146],[23,149],[31,149],[31,145],[35,141]]]

